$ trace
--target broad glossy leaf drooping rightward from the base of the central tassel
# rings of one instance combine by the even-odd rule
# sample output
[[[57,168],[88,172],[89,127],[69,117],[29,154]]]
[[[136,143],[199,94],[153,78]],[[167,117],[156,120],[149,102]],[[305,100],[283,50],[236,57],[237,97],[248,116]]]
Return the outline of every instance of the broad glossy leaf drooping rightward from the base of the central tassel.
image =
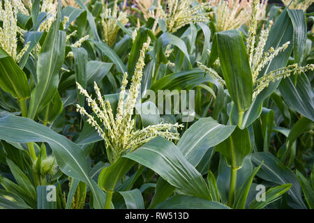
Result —
[[[184,194],[211,199],[202,175],[186,160],[179,148],[167,139],[151,139],[124,157],[153,169]]]

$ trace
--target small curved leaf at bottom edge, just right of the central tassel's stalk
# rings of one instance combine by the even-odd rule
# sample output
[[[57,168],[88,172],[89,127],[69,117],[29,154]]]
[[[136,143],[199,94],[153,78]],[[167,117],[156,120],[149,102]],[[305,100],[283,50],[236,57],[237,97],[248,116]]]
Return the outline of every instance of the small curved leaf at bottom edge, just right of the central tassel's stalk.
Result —
[[[142,193],[138,189],[119,192],[126,202],[127,209],[144,209]]]

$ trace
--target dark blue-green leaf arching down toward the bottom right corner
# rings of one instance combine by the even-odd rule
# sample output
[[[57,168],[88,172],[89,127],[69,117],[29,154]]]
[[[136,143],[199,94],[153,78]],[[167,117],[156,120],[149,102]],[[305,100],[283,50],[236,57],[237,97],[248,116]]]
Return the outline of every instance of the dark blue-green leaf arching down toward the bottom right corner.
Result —
[[[301,197],[301,186],[297,176],[288,167],[285,167],[270,153],[253,153],[251,160],[255,166],[259,166],[263,162],[260,171],[257,173],[258,177],[278,185],[292,184],[290,190],[287,191],[287,203],[290,207],[306,208]]]

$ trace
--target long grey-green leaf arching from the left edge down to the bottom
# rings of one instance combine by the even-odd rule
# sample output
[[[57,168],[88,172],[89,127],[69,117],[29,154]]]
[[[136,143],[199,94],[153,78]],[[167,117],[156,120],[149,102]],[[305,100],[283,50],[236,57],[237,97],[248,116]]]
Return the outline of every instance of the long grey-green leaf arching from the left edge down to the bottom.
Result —
[[[47,142],[52,148],[61,171],[87,183],[93,192],[95,208],[105,206],[105,194],[88,175],[89,168],[84,159],[84,151],[66,137],[29,118],[5,116],[0,118],[0,139],[19,143]]]

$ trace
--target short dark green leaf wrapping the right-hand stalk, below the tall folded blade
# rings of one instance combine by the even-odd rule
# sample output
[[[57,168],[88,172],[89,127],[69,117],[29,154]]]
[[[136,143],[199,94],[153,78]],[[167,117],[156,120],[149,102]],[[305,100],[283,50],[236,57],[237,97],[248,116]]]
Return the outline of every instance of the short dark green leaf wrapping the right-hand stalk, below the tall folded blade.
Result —
[[[218,153],[225,156],[227,164],[232,168],[241,168],[244,158],[251,152],[251,141],[248,129],[236,128],[222,143],[215,147]]]

